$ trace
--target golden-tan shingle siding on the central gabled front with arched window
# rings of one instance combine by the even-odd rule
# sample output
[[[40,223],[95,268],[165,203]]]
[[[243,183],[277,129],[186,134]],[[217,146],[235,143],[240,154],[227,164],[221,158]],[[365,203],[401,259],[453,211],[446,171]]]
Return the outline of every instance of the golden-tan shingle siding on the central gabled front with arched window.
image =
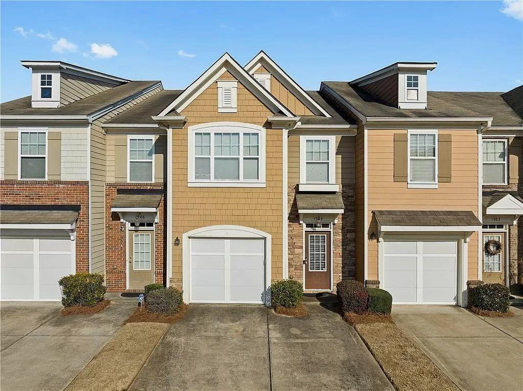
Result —
[[[229,72],[219,80],[231,80]],[[188,126],[234,121],[267,126],[272,113],[238,83],[236,113],[218,113],[218,89],[213,83],[181,114],[183,129],[173,130],[173,238],[192,229],[232,224],[259,229],[272,237],[272,279],[282,278],[282,131],[266,130],[266,188],[194,188],[187,186]],[[182,247],[174,246],[171,285],[181,287]]]

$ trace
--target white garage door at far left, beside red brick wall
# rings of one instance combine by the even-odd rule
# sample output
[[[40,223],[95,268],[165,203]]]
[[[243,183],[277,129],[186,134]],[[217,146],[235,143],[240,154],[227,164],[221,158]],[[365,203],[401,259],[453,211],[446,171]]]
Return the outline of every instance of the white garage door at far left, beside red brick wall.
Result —
[[[74,243],[69,235],[2,238],[2,300],[60,301],[58,280],[75,269]]]

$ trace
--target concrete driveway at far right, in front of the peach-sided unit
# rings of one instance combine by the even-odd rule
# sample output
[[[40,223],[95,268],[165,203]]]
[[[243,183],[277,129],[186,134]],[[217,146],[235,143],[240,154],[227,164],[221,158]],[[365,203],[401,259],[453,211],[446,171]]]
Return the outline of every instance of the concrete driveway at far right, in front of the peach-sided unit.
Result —
[[[510,318],[458,306],[394,306],[403,331],[463,390],[523,389],[523,309]]]

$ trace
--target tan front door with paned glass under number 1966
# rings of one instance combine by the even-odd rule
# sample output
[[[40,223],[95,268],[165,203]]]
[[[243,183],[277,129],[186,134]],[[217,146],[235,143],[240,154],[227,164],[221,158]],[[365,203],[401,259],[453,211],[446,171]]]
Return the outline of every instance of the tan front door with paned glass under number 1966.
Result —
[[[154,231],[129,232],[129,289],[154,282]]]

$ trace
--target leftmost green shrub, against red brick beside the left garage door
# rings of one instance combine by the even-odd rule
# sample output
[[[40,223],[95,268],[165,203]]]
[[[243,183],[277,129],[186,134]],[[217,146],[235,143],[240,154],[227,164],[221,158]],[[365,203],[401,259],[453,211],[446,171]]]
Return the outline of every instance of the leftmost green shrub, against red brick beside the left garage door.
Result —
[[[72,307],[85,305],[93,307],[104,300],[104,277],[96,273],[65,275],[58,284],[62,290],[62,305]]]

